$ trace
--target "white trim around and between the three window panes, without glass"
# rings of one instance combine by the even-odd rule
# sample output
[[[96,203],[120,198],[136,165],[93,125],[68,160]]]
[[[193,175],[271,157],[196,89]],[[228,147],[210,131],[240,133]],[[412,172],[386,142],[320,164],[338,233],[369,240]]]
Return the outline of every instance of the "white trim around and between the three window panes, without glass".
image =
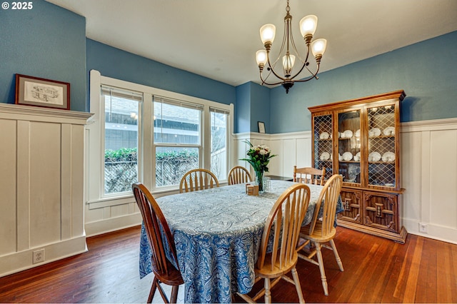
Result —
[[[215,101],[209,101],[203,98],[198,98],[194,96],[187,96],[181,93],[171,92],[162,90],[160,88],[152,88],[150,86],[144,86],[138,83],[131,83],[129,81],[122,81],[116,78],[110,78],[106,76],[101,76],[99,71],[91,70],[90,71],[90,109],[89,111],[94,114],[89,125],[86,126],[86,175],[85,175],[85,185],[86,185],[86,203],[89,203],[89,208],[103,208],[106,206],[115,206],[125,203],[132,202],[134,200],[133,194],[123,193],[121,196],[105,196],[104,195],[104,181],[102,170],[104,168],[104,163],[101,159],[101,148],[104,141],[104,133],[102,130],[102,123],[104,123],[104,108],[102,108],[101,103],[101,94],[100,86],[104,84],[106,86],[114,86],[119,88],[126,88],[132,91],[144,92],[143,104],[140,108],[141,113],[152,113],[153,105],[153,96],[166,96],[167,98],[173,98],[177,100],[189,101],[192,103],[198,103],[204,106],[204,112],[202,117],[202,122],[204,128],[202,129],[202,148],[204,151],[211,150],[211,136],[206,136],[211,134],[211,121],[210,119],[210,108],[221,108],[223,110],[229,111],[229,128],[227,129],[227,138],[228,140],[228,155],[229,159],[227,168],[229,169],[233,166],[233,151],[234,151],[234,137],[233,137],[233,121],[234,121],[234,106],[233,103],[226,105],[224,103],[217,103]],[[141,148],[143,158],[139,159],[139,162],[142,162],[142,166],[139,166],[139,180],[144,183],[146,187],[151,189],[153,194],[157,196],[162,196],[170,193],[176,193],[176,186],[165,188],[161,187],[160,190],[154,189],[152,186],[155,184],[155,174],[153,168],[155,168],[155,157],[144,157],[151,156],[153,151],[153,146],[151,144],[143,144],[144,138],[149,138],[149,142],[152,143],[154,138],[153,132],[153,122],[151,120],[152,115],[143,115],[141,116],[141,121],[139,125],[142,126],[139,130],[140,141],[139,149]],[[210,168],[211,163],[211,153],[201,153],[201,163],[204,168]],[[226,183],[226,180],[221,180],[221,183]]]

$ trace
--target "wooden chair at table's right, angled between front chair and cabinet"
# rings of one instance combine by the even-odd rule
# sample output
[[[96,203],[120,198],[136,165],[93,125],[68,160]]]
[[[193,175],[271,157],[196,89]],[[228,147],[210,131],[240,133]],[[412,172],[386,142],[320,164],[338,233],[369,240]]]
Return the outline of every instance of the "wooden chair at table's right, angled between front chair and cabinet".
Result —
[[[336,228],[333,225],[335,223],[336,204],[338,203],[342,183],[343,178],[340,175],[335,174],[331,176],[325,186],[323,186],[316,203],[316,208],[314,208],[311,224],[301,228],[301,240],[299,242],[300,245],[298,245],[297,248],[299,258],[319,266],[323,293],[325,293],[325,295],[328,295],[328,286],[326,272],[323,268],[322,247],[333,250],[338,267],[341,271],[344,271],[343,263],[341,262],[338,250],[336,250],[335,242],[333,241],[333,238],[335,238],[336,235]],[[323,204],[322,214],[319,212],[321,204]],[[312,250],[303,254],[305,253],[303,249],[305,249],[305,246],[310,242],[313,244]],[[328,246],[327,243],[330,243],[330,246]],[[317,261],[313,259],[315,255],[317,255]]]

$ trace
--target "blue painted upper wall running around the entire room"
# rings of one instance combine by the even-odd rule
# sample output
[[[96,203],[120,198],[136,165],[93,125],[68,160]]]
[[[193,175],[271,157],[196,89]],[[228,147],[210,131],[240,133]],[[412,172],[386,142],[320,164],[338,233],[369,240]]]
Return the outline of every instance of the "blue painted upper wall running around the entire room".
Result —
[[[235,104],[235,131],[311,129],[308,106],[403,89],[401,121],[457,117],[457,31],[349,64],[286,94],[256,83],[237,88],[85,38],[85,19],[43,0],[0,11],[0,102],[14,103],[15,74],[71,83],[71,110],[89,111],[89,70],[220,103]],[[325,58],[324,58],[325,60]],[[87,67],[86,67],[87,66]]]

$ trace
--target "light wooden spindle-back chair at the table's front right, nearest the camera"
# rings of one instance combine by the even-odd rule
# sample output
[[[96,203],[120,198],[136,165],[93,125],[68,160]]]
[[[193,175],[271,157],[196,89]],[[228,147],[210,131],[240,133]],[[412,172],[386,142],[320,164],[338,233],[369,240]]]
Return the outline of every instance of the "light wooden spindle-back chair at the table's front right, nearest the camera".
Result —
[[[296,270],[298,254],[296,245],[301,223],[308,210],[310,190],[305,184],[294,184],[278,198],[266,219],[261,246],[256,263],[256,282],[265,280],[262,290],[251,298],[248,295],[238,295],[249,303],[265,295],[265,303],[271,303],[271,288],[281,278],[295,285],[300,303],[305,303],[301,293],[300,280]],[[267,252],[268,239],[273,238],[271,252]],[[292,273],[292,278],[286,273]],[[271,282],[270,279],[274,279]]]

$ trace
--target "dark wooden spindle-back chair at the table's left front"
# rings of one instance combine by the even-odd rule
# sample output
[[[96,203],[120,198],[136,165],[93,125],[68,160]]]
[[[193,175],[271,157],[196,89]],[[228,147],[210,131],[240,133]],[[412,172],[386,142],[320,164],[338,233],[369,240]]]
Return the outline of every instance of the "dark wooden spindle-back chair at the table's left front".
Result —
[[[179,285],[184,284],[184,280],[179,269],[176,269],[168,258],[166,258],[165,253],[167,249],[164,243],[164,240],[166,240],[171,257],[174,259],[176,265],[179,265],[173,235],[171,234],[168,223],[166,223],[164,214],[151,195],[151,192],[142,183],[134,183],[132,190],[134,191],[136,203],[143,217],[146,235],[148,235],[152,251],[151,267],[154,273],[154,280],[147,303],[152,302],[157,288],[159,288],[159,293],[165,303],[176,303]],[[172,286],[170,300],[166,297],[160,283]]]

